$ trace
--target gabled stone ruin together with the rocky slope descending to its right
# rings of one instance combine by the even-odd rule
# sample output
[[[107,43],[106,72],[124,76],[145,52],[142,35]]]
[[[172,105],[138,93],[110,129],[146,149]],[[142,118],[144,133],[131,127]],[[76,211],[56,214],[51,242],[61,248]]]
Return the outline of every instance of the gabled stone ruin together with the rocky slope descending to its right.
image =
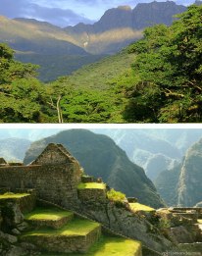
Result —
[[[170,239],[162,235],[161,230],[153,226],[152,220],[156,211],[154,216],[145,218],[142,217],[143,213],[136,214],[129,209],[129,202],[136,202],[134,198],[128,198],[123,207],[107,199],[108,186],[106,189],[78,189],[80,182],[93,181],[95,179],[83,176],[79,163],[61,144],[49,144],[27,166],[14,163],[11,165],[0,159],[0,193],[34,190],[37,199],[74,210],[101,223],[103,227],[126,237],[138,239],[146,246],[145,248],[162,252],[174,245]],[[161,218],[167,219],[167,216]],[[176,240],[175,233],[173,236]]]

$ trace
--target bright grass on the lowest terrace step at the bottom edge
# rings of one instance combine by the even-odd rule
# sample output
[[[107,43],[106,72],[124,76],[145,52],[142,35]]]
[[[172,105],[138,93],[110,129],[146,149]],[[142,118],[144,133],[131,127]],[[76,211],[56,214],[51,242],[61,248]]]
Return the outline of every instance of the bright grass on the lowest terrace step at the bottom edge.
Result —
[[[85,256],[134,256],[134,252],[140,248],[140,242],[122,237],[102,235],[98,242],[94,243]],[[41,254],[41,256],[80,256],[80,254]]]

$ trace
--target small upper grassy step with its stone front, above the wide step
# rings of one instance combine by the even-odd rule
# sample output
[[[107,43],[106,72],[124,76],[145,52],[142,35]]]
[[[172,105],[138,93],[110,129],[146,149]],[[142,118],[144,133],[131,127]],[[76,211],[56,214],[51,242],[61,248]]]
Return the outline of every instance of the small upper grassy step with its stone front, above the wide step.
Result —
[[[73,212],[63,211],[57,208],[36,208],[25,215],[25,221],[35,228],[47,227],[60,229],[74,218]]]

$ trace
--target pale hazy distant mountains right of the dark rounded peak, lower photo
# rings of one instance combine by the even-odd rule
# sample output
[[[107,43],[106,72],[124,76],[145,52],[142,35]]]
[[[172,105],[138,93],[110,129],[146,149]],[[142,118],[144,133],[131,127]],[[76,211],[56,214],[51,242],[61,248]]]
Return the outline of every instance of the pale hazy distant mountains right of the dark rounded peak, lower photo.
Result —
[[[161,138],[164,129],[159,129],[159,135],[152,134],[152,129],[93,129],[104,133],[126,151],[130,161],[141,166],[151,180],[166,169],[175,167],[181,159],[177,146]]]

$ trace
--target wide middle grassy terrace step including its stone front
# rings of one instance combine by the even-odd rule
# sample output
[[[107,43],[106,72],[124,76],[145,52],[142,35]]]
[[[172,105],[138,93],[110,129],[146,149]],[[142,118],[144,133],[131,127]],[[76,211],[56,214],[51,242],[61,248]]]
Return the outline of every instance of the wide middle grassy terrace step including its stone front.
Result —
[[[63,228],[39,228],[22,235],[21,240],[51,253],[85,253],[101,235],[98,223],[75,218]]]

